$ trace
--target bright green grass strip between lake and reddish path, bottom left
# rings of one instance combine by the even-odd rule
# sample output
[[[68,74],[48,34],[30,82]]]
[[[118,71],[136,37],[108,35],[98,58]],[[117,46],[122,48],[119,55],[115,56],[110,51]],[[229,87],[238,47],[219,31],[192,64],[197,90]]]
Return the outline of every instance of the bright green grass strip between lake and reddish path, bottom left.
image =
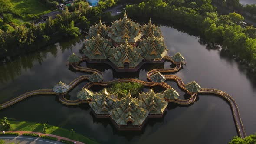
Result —
[[[38,124],[38,123],[33,123],[33,122],[20,122],[20,121],[9,121],[11,124],[11,128],[9,131],[35,131],[35,132],[43,132],[43,124]],[[83,136],[77,133],[74,133],[72,136],[71,131],[64,129],[64,128],[59,128],[53,125],[48,125],[47,124],[47,130],[46,134],[53,134],[53,135],[58,135],[61,137],[66,137],[69,139],[73,139],[75,141],[81,141],[86,144],[98,144],[97,142]]]

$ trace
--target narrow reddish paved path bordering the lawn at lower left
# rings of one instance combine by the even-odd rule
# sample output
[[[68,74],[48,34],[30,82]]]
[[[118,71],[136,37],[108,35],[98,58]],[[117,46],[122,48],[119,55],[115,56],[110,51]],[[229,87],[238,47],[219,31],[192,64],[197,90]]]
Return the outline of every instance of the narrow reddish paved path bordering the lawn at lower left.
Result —
[[[2,131],[1,131],[2,132]],[[66,137],[61,137],[61,136],[57,136],[57,135],[53,135],[53,134],[44,134],[44,133],[40,133],[40,132],[33,132],[33,131],[5,131],[6,133],[8,132],[15,132],[15,133],[19,133],[20,136],[17,136],[17,137],[21,137],[22,134],[24,133],[30,133],[30,134],[40,134],[40,135],[47,135],[47,136],[50,136],[50,137],[56,137],[58,138],[57,141],[60,141],[60,139],[63,139],[63,140],[67,140],[67,141],[72,141],[72,142],[76,142],[76,144],[85,144],[85,143],[82,143],[82,142],[79,142],[79,141],[75,141],[75,140],[71,140],[69,138],[66,138]],[[7,137],[6,135],[4,136],[1,136],[1,137]],[[15,136],[12,136],[12,137],[15,137]],[[25,137],[25,136],[22,136],[22,137]],[[34,139],[37,139],[38,137],[33,137]],[[40,139],[43,139],[43,138],[40,138]],[[43,140],[48,140],[48,139],[43,139]],[[56,141],[55,141],[56,142]]]

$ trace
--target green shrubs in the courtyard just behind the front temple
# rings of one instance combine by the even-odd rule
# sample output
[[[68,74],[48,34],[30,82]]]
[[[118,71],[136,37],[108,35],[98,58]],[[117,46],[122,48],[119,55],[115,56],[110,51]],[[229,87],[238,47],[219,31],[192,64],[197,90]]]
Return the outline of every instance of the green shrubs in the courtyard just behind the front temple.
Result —
[[[118,94],[118,97],[125,97],[129,92],[133,97],[137,97],[139,92],[142,91],[143,85],[139,83],[131,82],[119,82],[114,83],[111,87],[107,88],[109,93]]]

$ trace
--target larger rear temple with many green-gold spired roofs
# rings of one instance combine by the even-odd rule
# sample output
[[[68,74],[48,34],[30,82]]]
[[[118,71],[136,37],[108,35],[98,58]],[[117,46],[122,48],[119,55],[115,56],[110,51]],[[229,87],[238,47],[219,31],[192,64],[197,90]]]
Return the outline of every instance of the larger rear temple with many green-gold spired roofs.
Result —
[[[146,62],[163,62],[167,49],[158,26],[151,20],[140,26],[128,19],[125,12],[110,27],[101,20],[91,26],[82,52],[88,62],[105,62],[118,71],[138,69]]]

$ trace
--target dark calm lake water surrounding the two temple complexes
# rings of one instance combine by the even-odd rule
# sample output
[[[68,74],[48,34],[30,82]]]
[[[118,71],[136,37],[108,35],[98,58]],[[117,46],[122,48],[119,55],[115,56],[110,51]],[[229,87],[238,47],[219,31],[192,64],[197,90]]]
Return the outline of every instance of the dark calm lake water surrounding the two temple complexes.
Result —
[[[184,83],[197,81],[202,88],[216,88],[227,92],[236,100],[246,134],[256,132],[256,82],[243,66],[226,56],[220,50],[201,45],[199,38],[162,26],[169,54],[180,52],[187,60],[177,76]],[[74,39],[58,43],[42,52],[23,56],[0,66],[0,102],[10,100],[24,92],[53,88],[60,80],[69,83],[80,75],[65,66],[72,52],[79,53],[83,42]],[[138,78],[146,80],[149,69],[168,68],[171,63],[144,65],[138,72],[118,73],[107,65],[82,63],[81,65],[100,69],[105,80],[117,78]],[[87,81],[80,83],[70,93],[75,99]],[[188,95],[175,82],[167,82],[185,99]],[[94,88],[97,89],[97,88]],[[181,106],[170,103],[163,118],[150,118],[142,131],[117,131],[110,120],[97,119],[87,104],[79,106],[62,105],[56,96],[33,96],[0,111],[0,117],[7,116],[18,121],[34,121],[73,128],[76,132],[105,144],[227,144],[237,135],[230,105],[215,95],[199,95],[193,105]]]

